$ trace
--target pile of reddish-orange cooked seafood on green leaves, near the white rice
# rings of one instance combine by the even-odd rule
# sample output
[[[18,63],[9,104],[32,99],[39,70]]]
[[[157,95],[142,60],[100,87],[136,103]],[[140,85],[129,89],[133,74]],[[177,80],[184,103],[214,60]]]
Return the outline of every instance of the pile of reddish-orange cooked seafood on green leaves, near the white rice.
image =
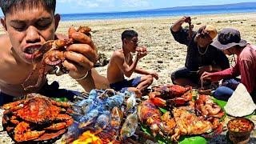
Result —
[[[153,135],[160,134],[177,142],[181,135],[222,131],[219,120],[224,111],[209,95],[198,94],[193,99],[190,86],[158,86],[149,97],[138,106],[138,117]],[[167,112],[162,114],[159,106]]]

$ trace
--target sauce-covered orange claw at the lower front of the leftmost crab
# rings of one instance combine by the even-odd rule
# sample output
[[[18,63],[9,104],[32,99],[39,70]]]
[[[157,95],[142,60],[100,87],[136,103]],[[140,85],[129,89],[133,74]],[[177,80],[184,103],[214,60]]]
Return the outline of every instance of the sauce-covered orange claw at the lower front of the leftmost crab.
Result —
[[[33,140],[35,138],[38,138],[42,134],[45,133],[45,130],[42,130],[42,131],[33,130],[33,131],[31,131],[29,129],[29,127],[30,127],[30,124],[28,124],[26,122],[20,122],[14,129],[14,139],[17,142],[29,141],[29,140]]]

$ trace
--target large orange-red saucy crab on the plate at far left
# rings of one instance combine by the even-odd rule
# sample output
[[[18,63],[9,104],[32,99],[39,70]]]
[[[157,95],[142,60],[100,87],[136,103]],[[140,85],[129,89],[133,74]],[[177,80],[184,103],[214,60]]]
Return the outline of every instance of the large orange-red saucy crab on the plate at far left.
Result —
[[[3,126],[16,142],[48,140],[66,131],[74,120],[67,114],[69,104],[55,102],[40,94],[2,106]]]

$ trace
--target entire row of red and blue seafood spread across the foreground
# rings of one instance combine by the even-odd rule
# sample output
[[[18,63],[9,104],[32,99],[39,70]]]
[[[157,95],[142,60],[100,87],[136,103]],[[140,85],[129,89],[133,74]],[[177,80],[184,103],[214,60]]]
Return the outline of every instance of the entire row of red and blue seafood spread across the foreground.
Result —
[[[190,86],[155,86],[148,96],[91,90],[66,103],[28,94],[3,106],[3,126],[15,142],[54,142],[64,134],[62,143],[74,144],[136,143],[156,136],[178,142],[182,135],[222,131],[224,111],[209,95],[193,95]]]

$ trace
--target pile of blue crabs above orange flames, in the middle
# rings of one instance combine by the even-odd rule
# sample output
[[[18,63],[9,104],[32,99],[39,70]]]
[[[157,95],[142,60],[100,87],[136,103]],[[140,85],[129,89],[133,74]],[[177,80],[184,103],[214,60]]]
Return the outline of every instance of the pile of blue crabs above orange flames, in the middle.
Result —
[[[135,134],[138,116],[134,93],[91,90],[77,99],[72,114],[75,122],[63,143],[120,143]]]

